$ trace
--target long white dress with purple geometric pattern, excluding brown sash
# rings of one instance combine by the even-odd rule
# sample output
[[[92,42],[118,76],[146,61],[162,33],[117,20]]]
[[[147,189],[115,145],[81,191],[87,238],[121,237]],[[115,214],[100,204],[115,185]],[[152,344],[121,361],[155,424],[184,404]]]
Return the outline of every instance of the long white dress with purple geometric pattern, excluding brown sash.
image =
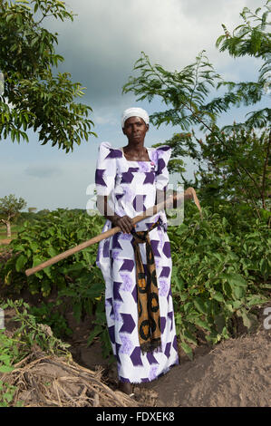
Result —
[[[109,142],[102,142],[99,147],[95,174],[97,195],[108,196],[111,207],[119,216],[134,218],[139,215],[155,204],[156,189],[163,190],[168,185],[170,147],[164,145],[147,150],[150,161],[134,161],[126,160],[123,150],[111,148]],[[141,220],[135,225],[135,230],[147,230],[158,219],[159,227],[150,231],[150,244],[159,288],[161,352],[142,354],[140,351],[132,235],[118,232],[99,243],[96,264],[101,268],[105,281],[105,312],[121,382],[150,382],[179,363],[165,211]],[[106,220],[102,232],[108,229],[111,229],[110,220]],[[140,244],[144,267],[145,246],[146,243]]]

